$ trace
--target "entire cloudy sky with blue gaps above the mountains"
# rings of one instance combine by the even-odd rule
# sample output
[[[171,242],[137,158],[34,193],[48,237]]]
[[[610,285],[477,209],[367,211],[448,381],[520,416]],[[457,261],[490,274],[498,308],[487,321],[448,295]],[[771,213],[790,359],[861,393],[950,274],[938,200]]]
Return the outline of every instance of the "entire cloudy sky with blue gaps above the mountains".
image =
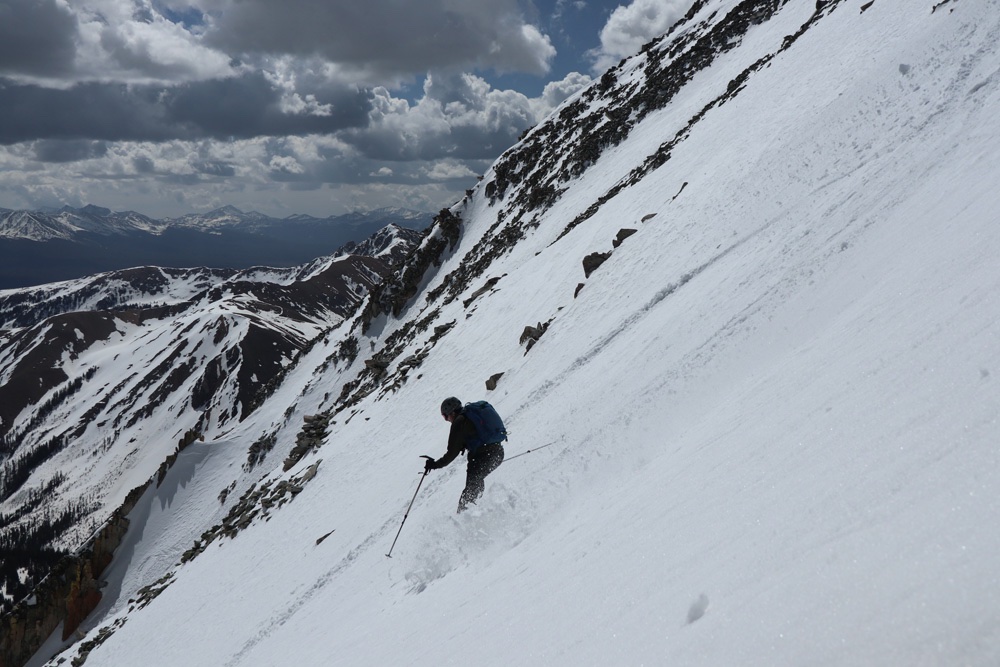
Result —
[[[691,0],[0,0],[0,208],[437,210]]]

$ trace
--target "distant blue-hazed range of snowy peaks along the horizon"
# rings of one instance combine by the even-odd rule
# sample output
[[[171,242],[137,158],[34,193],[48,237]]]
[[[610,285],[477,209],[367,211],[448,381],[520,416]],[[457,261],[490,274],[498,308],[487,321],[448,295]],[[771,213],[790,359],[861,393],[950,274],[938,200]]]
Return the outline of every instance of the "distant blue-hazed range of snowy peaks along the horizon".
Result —
[[[433,214],[401,208],[272,218],[233,207],[157,220],[100,206],[0,208],[0,289],[135,266],[288,267],[368,238],[387,225],[421,230]]]

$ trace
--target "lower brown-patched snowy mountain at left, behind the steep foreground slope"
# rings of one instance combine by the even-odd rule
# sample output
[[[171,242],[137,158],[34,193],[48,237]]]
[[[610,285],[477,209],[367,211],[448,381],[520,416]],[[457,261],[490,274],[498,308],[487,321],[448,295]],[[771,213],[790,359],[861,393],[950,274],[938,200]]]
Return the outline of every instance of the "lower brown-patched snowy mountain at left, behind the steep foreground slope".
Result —
[[[52,565],[46,548],[107,520],[123,477],[245,419],[420,238],[390,226],[293,269],[143,267],[0,293],[3,610]]]

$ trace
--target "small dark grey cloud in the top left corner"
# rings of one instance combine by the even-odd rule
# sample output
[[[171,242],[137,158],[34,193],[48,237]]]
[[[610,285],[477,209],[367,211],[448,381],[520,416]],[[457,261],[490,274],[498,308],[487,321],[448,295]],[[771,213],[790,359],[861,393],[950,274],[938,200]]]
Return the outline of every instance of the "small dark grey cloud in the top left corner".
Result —
[[[0,2],[0,75],[55,76],[72,70],[76,17],[55,0]]]

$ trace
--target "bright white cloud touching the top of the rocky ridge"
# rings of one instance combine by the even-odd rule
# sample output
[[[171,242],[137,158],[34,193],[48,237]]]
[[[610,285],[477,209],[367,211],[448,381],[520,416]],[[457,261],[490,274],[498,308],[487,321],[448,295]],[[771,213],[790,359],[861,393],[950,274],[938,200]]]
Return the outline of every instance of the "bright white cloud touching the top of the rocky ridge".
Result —
[[[643,44],[669,30],[690,6],[691,0],[634,0],[619,6],[601,30],[601,46],[590,53],[594,73],[638,53]]]

